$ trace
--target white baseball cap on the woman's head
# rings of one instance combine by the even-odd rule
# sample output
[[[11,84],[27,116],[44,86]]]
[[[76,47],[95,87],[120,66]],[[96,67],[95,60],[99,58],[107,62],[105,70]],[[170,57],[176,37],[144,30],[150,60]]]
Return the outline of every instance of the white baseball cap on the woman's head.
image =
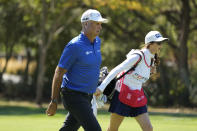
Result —
[[[159,31],[150,31],[145,36],[145,44],[148,44],[150,42],[162,42],[168,40],[168,38],[164,38]]]

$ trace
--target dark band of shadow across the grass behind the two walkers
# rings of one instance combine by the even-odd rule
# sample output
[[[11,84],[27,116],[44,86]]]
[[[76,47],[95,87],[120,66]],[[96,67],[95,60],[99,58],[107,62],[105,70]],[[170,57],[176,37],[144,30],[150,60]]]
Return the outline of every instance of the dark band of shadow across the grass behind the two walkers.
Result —
[[[35,115],[45,114],[46,108],[33,108],[25,106],[0,106],[0,116],[13,116],[13,115]],[[57,114],[65,115],[67,111],[64,109],[58,109]],[[99,109],[98,114],[109,115],[106,109]],[[171,117],[197,117],[197,114],[184,114],[184,113],[165,113],[165,112],[149,112],[152,116],[171,116]]]

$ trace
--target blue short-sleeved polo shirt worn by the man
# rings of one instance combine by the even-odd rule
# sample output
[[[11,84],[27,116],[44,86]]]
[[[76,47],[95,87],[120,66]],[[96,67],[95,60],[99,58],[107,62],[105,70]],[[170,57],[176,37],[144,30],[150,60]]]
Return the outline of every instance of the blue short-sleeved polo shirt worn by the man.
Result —
[[[94,93],[97,88],[101,65],[100,38],[94,42],[81,33],[64,48],[58,66],[67,70],[62,88]]]

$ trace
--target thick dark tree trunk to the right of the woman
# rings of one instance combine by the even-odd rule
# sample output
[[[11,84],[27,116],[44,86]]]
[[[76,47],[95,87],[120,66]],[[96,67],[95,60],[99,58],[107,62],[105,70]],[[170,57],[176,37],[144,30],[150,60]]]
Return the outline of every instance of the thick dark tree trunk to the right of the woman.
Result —
[[[177,62],[178,62],[178,69],[180,74],[180,79],[184,84],[184,88],[182,89],[182,95],[179,98],[179,104],[184,106],[190,105],[189,94],[191,87],[190,81],[190,73],[188,69],[188,36],[189,36],[189,25],[190,25],[190,6],[188,0],[181,0],[182,1],[182,10],[180,15],[180,30],[178,34],[178,42],[179,47],[176,52]],[[181,87],[177,87],[181,88]]]

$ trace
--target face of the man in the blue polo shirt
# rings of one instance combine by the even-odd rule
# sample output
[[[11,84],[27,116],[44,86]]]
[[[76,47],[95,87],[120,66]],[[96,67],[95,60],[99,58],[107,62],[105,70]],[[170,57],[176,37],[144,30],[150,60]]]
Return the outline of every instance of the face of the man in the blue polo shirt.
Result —
[[[88,32],[88,34],[91,34],[93,36],[98,36],[102,29],[101,24],[102,24],[101,22],[88,21],[86,25],[86,31]]]

